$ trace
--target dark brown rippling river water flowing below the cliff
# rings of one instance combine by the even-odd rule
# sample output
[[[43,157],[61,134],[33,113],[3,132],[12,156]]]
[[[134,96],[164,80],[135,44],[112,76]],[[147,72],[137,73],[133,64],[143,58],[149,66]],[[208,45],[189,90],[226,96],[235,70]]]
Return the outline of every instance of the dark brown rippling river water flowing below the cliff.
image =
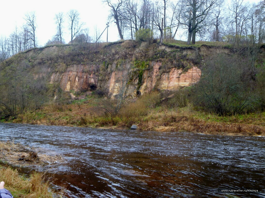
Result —
[[[264,197],[265,138],[0,123],[0,140],[60,154],[69,197]],[[220,189],[258,189],[222,193]]]

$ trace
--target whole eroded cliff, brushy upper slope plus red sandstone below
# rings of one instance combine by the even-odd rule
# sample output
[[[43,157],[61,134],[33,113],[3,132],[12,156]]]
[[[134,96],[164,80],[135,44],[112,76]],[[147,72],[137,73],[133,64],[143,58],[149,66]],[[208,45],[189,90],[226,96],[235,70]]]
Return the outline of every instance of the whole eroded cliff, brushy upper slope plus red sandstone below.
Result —
[[[126,95],[135,97],[136,93],[144,94],[153,88],[173,90],[191,86],[200,79],[199,65],[205,57],[216,50],[230,53],[220,48],[167,48],[163,55],[157,44],[143,47],[128,42],[101,48],[91,46],[89,50],[74,45],[32,49],[11,57],[2,67],[17,60],[27,61],[34,75],[46,76],[50,84],[59,84],[63,91],[104,89],[116,95],[126,81]]]

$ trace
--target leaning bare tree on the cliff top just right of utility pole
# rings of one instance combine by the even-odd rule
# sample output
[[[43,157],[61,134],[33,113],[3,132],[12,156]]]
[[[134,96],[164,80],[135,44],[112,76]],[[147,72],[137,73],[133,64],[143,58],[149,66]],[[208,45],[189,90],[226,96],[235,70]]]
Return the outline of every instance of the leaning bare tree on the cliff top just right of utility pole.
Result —
[[[111,7],[111,18],[114,18],[117,29],[119,32],[119,36],[121,40],[123,40],[123,34],[122,34],[122,3],[123,0],[118,0],[116,3],[113,3],[111,0],[103,0],[103,3],[107,3],[109,7]]]

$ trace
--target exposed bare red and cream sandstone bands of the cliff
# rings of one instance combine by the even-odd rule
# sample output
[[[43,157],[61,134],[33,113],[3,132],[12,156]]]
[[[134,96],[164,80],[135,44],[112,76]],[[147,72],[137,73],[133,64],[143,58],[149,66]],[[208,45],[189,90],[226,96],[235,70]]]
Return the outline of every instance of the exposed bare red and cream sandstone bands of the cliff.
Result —
[[[139,90],[137,90],[139,79],[136,78],[129,84],[127,95],[134,97],[136,91],[140,91],[143,94],[155,87],[173,90],[180,86],[190,86],[196,83],[201,76],[201,70],[192,64],[187,72],[183,72],[182,69],[171,68],[169,72],[162,74],[160,74],[161,62],[152,61],[149,64],[152,69],[144,70]],[[127,65],[129,68],[132,67],[129,63]],[[93,91],[100,87],[107,89],[110,94],[116,95],[121,83],[117,79],[127,75],[126,73],[129,70],[128,67],[125,70],[116,70],[116,66],[117,64],[113,63],[111,68],[107,69],[105,76],[100,78],[98,74],[99,64],[71,65],[62,74],[59,72],[52,73],[50,83],[59,82],[63,91]]]

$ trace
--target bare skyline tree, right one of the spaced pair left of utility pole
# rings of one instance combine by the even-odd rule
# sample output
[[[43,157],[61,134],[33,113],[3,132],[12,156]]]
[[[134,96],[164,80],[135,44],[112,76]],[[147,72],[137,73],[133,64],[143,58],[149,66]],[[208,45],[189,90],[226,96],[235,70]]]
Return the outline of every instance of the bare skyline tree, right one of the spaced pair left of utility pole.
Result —
[[[68,20],[69,20],[69,30],[71,31],[71,43],[73,42],[73,39],[75,36],[80,34],[81,28],[84,25],[84,23],[79,22],[79,12],[77,10],[70,10],[67,13]]]

